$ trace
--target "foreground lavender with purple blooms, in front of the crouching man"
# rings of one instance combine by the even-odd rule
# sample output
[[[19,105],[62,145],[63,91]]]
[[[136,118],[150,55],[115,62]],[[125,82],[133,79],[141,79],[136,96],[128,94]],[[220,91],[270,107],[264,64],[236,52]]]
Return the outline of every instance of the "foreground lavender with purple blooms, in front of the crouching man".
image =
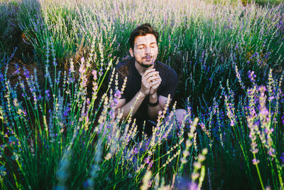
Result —
[[[31,75],[15,64],[18,83],[13,86],[6,73],[1,73],[4,188],[39,188],[43,184],[60,189],[135,188],[142,183],[141,189],[145,189],[165,186],[165,181],[168,187],[187,186],[190,182],[183,184],[185,179],[201,188],[204,180],[206,186],[214,186],[219,178],[226,179],[219,173],[222,167],[214,171],[220,164],[214,161],[217,159],[224,159],[224,167],[235,161],[237,171],[246,174],[247,181],[254,181],[251,187],[260,184],[263,188],[264,185],[282,188],[283,78],[273,78],[272,70],[268,73],[268,84],[260,87],[256,84],[257,76],[249,72],[252,85],[244,87],[246,95],[237,105],[229,83],[226,88],[220,84],[222,95],[214,98],[212,106],[197,113],[200,120],[193,121],[195,116],[187,102],[185,120],[177,123],[174,105],[168,120],[163,119],[166,111],[160,112],[152,137],[145,134],[138,140],[131,115],[122,120],[112,110],[123,89],[110,95],[105,92],[97,98],[111,62],[99,78],[96,70],[91,72],[92,98],[89,98],[86,84],[91,58],[80,60],[77,77],[71,61],[68,73],[61,77],[58,71],[54,78],[49,73],[48,54],[47,58],[44,87],[38,83],[36,70]],[[56,60],[53,56],[51,59],[54,60],[51,67],[56,71]],[[117,80],[109,74],[111,80]],[[239,73],[236,79],[242,84]],[[236,162],[239,157],[241,160]],[[255,180],[257,176],[259,183]]]

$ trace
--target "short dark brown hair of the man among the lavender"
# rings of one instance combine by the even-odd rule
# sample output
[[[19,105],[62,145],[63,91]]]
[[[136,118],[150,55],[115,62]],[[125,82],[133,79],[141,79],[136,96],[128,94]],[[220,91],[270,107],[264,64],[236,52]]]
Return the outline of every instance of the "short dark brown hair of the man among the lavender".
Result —
[[[130,47],[132,49],[134,48],[134,41],[137,36],[146,36],[149,33],[155,36],[155,40],[158,43],[159,33],[152,28],[150,23],[143,23],[141,26],[138,26],[131,32],[129,37]]]

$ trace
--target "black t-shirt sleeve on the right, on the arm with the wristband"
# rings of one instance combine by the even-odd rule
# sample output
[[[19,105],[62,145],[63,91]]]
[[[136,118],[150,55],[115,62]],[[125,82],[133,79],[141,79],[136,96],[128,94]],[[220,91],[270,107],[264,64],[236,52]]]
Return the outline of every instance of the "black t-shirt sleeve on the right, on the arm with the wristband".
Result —
[[[170,94],[170,98],[173,98],[175,96],[175,91],[177,90],[178,85],[178,75],[173,72],[170,72],[169,75],[165,78],[165,88],[160,92],[160,95],[163,95],[164,97],[168,97]]]

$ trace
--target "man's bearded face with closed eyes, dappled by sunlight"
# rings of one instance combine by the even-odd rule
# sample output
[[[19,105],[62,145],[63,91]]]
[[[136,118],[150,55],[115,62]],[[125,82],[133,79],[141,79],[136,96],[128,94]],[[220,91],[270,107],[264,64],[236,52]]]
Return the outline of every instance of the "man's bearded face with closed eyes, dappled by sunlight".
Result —
[[[137,36],[134,40],[134,47],[129,49],[129,53],[143,68],[151,67],[158,55],[158,44],[155,36],[153,34]]]

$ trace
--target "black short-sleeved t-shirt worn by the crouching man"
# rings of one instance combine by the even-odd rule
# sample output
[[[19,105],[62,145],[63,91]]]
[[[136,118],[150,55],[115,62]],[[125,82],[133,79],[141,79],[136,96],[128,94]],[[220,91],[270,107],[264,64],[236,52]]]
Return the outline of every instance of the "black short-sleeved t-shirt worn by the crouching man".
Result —
[[[175,90],[178,85],[178,75],[175,73],[175,70],[170,68],[168,65],[161,63],[156,60],[154,63],[155,70],[159,71],[160,78],[162,79],[160,86],[158,87],[157,94],[162,95],[164,97],[168,97],[170,94],[170,98],[173,98],[175,95]],[[138,93],[141,89],[141,78],[142,76],[138,73],[138,70],[135,67],[135,59],[130,58],[124,62],[119,63],[116,66],[115,75],[118,73],[118,82],[119,82],[119,90],[124,83],[124,78],[127,77],[126,88],[124,93],[121,95],[121,99],[126,99],[126,103],[132,100],[132,98]],[[115,91],[115,83],[114,80],[111,84],[111,89],[113,92]],[[133,115],[133,118],[136,120],[149,120],[148,116],[148,96],[145,97],[140,107],[136,111],[136,114]]]

